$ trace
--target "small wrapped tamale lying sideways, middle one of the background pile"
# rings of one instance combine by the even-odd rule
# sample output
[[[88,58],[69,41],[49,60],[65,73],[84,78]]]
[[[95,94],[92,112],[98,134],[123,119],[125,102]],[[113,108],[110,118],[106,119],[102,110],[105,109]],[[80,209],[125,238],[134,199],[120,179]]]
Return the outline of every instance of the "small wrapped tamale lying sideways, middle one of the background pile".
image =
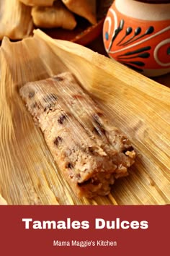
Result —
[[[73,30],[76,19],[61,1],[55,1],[53,7],[32,7],[32,19],[37,27],[63,27]]]

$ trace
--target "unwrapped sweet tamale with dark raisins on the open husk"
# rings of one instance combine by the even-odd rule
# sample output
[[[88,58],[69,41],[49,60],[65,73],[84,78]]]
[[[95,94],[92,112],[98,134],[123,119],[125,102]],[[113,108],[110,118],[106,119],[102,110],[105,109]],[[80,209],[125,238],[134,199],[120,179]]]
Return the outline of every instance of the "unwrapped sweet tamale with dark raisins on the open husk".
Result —
[[[70,72],[28,82],[19,92],[76,195],[108,195],[115,179],[128,175],[132,145]]]

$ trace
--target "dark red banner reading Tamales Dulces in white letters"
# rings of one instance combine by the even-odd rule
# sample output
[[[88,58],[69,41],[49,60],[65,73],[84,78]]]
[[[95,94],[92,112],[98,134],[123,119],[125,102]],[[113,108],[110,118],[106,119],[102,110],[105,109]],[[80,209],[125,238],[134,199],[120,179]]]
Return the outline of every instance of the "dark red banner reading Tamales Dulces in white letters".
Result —
[[[169,255],[170,205],[0,206],[1,255]]]

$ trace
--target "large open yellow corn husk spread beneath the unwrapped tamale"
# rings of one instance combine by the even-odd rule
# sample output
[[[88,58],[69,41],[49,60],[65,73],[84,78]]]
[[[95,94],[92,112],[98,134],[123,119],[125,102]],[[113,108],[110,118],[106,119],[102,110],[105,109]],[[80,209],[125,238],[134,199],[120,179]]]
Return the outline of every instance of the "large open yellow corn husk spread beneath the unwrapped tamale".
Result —
[[[170,90],[83,46],[33,38],[0,50],[0,193],[9,204],[164,205],[170,202]],[[137,152],[130,175],[107,197],[78,199],[58,170],[19,88],[26,82],[71,71],[128,135]]]

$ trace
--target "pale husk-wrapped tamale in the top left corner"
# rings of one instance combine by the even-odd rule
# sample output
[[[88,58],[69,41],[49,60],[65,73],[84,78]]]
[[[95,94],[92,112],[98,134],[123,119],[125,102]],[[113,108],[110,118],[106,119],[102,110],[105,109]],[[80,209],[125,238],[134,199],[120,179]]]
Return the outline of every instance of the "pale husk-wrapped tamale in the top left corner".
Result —
[[[0,40],[4,36],[10,39],[22,39],[32,34],[33,22],[31,7],[18,0],[0,2]]]

